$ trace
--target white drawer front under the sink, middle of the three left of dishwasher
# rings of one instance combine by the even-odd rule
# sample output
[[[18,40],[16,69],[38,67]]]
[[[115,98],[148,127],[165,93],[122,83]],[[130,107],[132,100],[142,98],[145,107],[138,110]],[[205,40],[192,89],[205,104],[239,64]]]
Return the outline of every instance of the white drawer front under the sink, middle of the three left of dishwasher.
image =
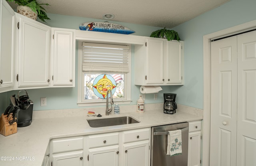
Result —
[[[97,134],[89,136],[89,148],[118,144],[118,133]]]

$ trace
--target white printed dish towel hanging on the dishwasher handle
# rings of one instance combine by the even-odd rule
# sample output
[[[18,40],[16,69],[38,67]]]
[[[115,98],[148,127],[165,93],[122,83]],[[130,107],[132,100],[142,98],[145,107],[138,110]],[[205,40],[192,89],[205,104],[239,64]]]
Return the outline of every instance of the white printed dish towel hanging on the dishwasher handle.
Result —
[[[181,130],[168,131],[166,155],[176,156],[182,154]]]

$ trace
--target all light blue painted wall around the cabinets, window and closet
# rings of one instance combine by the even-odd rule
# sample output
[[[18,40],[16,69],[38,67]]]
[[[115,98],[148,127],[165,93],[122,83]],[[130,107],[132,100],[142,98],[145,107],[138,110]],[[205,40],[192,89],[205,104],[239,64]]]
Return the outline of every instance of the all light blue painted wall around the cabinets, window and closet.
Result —
[[[174,28],[184,41],[185,56],[185,85],[162,86],[163,91],[158,93],[158,100],[152,94],[146,95],[145,103],[162,103],[163,93],[177,93],[177,103],[190,107],[203,108],[203,36],[219,30],[230,28],[256,19],[256,0],[230,0],[226,4],[206,12],[180,26]],[[89,18],[48,14],[51,20],[48,25],[57,28],[78,29],[82,22],[103,21]],[[113,22],[126,26],[136,33],[133,35],[150,36],[151,32],[160,28],[141,26],[136,24]],[[132,53],[134,57],[134,53]],[[77,51],[76,51],[77,57]],[[132,61],[134,58],[132,57]],[[76,60],[77,63],[77,60]],[[132,66],[133,69],[133,66]],[[77,73],[77,69],[76,69]],[[132,75],[134,71],[132,70]],[[133,78],[133,77],[132,77]],[[77,75],[76,75],[77,80]],[[77,85],[77,83],[76,83]],[[134,85],[132,79],[132,104],[138,99],[139,86]],[[0,109],[3,112],[8,105],[9,97],[18,91],[0,93]],[[28,95],[34,101],[34,110],[72,109],[78,108],[77,86],[75,88],[46,88],[30,89]],[[40,97],[47,97],[47,106],[40,107]],[[6,105],[4,105],[6,103]]]

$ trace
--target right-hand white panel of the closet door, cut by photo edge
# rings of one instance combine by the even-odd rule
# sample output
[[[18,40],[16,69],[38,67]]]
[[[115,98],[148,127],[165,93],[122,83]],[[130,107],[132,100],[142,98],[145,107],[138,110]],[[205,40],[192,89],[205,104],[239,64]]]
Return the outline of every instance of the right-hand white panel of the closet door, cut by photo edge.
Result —
[[[237,38],[237,166],[256,166],[256,31]]]

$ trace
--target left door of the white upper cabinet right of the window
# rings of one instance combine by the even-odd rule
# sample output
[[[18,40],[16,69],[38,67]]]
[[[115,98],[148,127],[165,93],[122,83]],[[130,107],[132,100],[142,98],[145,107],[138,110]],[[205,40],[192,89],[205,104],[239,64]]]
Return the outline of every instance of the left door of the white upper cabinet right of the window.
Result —
[[[164,41],[146,39],[146,84],[164,83]]]

